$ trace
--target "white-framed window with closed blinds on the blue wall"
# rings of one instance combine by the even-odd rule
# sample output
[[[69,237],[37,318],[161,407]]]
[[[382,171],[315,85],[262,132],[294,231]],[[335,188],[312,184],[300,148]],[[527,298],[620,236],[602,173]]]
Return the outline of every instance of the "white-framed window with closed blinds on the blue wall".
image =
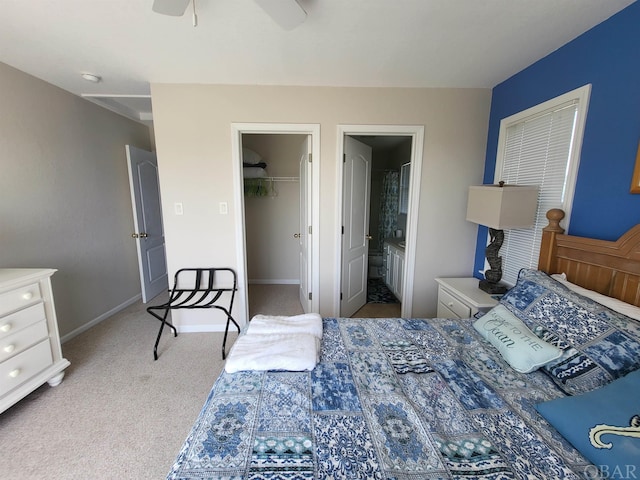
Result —
[[[505,230],[500,255],[508,284],[521,268],[537,268],[547,211],[562,208],[565,223],[570,218],[590,91],[585,85],[500,122],[495,183],[539,187],[535,225]]]

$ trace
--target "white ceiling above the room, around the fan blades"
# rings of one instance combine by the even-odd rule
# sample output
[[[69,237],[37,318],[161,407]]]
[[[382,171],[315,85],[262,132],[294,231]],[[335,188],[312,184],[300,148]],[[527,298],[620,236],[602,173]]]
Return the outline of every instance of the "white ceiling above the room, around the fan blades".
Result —
[[[137,120],[156,82],[492,88],[633,0],[299,0],[291,31],[253,0],[197,0],[195,28],[152,3],[0,0],[0,61]]]

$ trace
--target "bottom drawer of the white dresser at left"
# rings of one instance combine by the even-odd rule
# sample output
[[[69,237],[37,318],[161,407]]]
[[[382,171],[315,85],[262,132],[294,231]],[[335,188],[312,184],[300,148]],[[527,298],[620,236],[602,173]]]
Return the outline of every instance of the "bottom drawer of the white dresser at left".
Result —
[[[8,393],[53,363],[49,340],[0,363],[0,392]]]

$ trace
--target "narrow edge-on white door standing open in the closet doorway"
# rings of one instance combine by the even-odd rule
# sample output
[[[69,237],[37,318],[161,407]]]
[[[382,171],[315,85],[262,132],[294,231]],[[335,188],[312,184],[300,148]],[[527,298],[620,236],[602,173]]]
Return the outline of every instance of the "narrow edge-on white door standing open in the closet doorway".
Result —
[[[311,137],[307,136],[300,152],[300,303],[305,313],[311,309],[311,268],[309,252],[311,252]]]

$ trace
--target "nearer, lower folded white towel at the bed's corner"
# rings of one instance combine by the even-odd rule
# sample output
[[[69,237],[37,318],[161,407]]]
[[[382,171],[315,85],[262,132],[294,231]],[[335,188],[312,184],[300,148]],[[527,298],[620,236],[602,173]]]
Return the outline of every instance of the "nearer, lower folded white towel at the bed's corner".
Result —
[[[231,347],[224,369],[313,370],[320,353],[320,340],[309,334],[240,335]]]

